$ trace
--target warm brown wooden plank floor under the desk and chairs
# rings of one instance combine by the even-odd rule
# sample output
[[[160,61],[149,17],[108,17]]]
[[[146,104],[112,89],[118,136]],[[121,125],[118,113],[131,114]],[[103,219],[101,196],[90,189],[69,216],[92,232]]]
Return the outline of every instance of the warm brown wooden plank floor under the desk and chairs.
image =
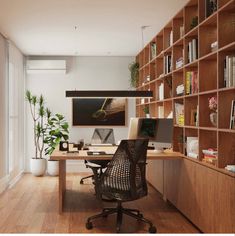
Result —
[[[80,185],[81,177],[68,175],[65,212],[59,215],[58,178],[25,174],[13,188],[0,195],[0,233],[115,233],[115,216],[96,220],[92,230],[85,228],[87,217],[114,203],[96,200],[91,182]],[[147,197],[124,206],[140,209],[152,220],[158,233],[198,233],[151,186]],[[124,216],[121,232],[147,233],[148,226]]]

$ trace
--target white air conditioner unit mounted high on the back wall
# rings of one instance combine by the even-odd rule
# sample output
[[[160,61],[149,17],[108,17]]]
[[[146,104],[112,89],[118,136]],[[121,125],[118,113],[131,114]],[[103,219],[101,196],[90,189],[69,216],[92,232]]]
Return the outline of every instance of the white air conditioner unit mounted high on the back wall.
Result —
[[[27,74],[65,74],[66,60],[28,60]]]

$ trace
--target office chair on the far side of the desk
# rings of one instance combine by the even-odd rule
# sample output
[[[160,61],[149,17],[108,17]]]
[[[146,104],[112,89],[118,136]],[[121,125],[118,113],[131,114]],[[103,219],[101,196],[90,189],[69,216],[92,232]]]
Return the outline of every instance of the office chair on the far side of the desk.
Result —
[[[114,139],[114,132],[113,129],[106,129],[106,128],[97,128],[94,130],[94,133],[91,138],[91,144],[115,144]],[[89,163],[89,165],[87,165]],[[107,164],[109,161],[107,160],[97,160],[97,161],[87,161],[85,160],[85,165],[87,168],[89,168],[90,163],[92,163],[93,167],[96,167],[99,169],[99,174],[102,174],[102,170],[107,167]],[[94,174],[83,177],[80,180],[80,184],[84,183],[85,179],[92,178],[94,179]]]

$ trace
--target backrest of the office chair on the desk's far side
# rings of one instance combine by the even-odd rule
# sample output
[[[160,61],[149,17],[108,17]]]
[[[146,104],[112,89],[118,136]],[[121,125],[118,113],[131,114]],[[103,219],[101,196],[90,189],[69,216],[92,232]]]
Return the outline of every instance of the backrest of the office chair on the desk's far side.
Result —
[[[91,144],[115,144],[113,129],[95,129],[91,138]]]

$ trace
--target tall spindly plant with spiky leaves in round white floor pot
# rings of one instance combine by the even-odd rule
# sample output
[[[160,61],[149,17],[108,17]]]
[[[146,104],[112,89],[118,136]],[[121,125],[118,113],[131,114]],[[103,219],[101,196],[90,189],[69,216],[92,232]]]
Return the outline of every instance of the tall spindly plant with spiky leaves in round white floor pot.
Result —
[[[51,112],[45,108],[42,95],[38,98],[27,90],[26,100],[29,103],[30,113],[33,119],[35,147],[35,156],[31,158],[30,168],[33,175],[42,176],[46,170],[46,160],[43,158],[44,136],[47,129],[46,119],[48,120],[50,118]]]

